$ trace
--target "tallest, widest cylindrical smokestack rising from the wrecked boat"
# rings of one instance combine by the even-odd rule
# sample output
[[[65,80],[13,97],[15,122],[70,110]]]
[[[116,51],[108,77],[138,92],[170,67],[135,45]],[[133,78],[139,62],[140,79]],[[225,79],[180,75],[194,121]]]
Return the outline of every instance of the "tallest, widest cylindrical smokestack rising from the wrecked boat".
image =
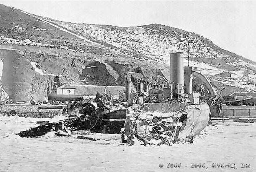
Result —
[[[183,93],[184,68],[183,53],[170,53],[170,79],[171,83],[179,84],[178,90]]]

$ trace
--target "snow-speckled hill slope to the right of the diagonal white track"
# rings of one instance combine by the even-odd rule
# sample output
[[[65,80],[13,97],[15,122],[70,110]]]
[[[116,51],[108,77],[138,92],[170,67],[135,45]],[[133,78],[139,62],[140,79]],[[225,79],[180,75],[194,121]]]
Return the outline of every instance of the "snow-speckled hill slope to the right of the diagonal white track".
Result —
[[[194,66],[219,89],[229,87],[255,91],[256,63],[223,50],[203,36],[160,24],[137,27],[117,27],[109,25],[77,24],[40,17],[94,42],[111,47],[120,53],[140,60],[169,64],[170,52],[183,52],[185,66]],[[231,77],[216,77],[222,72],[230,72]]]

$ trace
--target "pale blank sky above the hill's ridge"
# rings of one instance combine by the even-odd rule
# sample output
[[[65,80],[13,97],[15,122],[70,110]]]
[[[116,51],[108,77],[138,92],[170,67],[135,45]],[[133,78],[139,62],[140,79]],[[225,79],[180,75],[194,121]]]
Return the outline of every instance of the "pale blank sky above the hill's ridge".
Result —
[[[168,25],[199,33],[225,50],[256,61],[256,1],[0,0],[0,4],[66,22]]]

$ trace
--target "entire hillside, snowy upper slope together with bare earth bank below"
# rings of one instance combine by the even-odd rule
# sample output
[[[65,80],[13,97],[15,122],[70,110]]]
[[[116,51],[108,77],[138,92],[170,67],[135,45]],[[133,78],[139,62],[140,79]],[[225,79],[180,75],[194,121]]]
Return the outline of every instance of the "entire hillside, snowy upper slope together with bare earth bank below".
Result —
[[[159,68],[168,78],[168,53],[184,52],[188,60],[188,50],[190,66],[204,74],[216,90],[226,87],[225,94],[256,90],[255,62],[223,50],[196,33],[160,24],[117,27],[61,22],[0,5],[2,85],[7,93],[18,96],[16,100],[47,97],[53,83],[102,84],[95,82],[94,76],[84,81],[85,69],[95,61],[113,79],[122,74],[106,60],[131,68]],[[20,68],[21,64],[25,65]],[[223,71],[232,77],[215,76]],[[97,71],[96,75],[100,77]],[[109,85],[113,83],[121,84],[108,81]]]

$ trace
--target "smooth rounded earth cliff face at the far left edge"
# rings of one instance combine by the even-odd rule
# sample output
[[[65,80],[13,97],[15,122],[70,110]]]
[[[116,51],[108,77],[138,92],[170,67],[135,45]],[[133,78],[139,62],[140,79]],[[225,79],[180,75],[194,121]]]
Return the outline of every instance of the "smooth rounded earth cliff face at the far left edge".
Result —
[[[47,100],[49,77],[37,75],[22,51],[0,50],[2,86],[13,101]]]

